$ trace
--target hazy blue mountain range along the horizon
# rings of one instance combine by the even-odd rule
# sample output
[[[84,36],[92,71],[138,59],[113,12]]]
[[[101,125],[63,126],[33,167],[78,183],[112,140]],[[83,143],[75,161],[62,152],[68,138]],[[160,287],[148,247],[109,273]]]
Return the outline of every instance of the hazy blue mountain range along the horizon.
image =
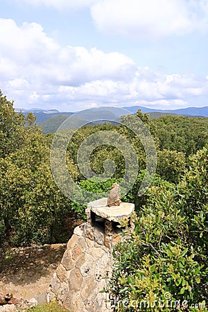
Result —
[[[87,123],[88,121],[92,121],[92,119],[103,119],[103,120],[118,120],[121,116],[121,110],[116,109],[116,107],[105,107],[105,110],[100,108],[93,108],[89,112],[83,111],[81,114],[83,122]],[[161,116],[166,116],[168,114],[177,114],[189,117],[208,117],[208,106],[205,107],[187,107],[180,108],[177,110],[157,110],[153,108],[143,107],[143,106],[128,106],[122,107],[128,112],[132,112],[135,114],[137,110],[141,110],[142,113],[150,114],[150,119],[159,118]],[[36,116],[36,122],[42,128],[44,133],[55,132],[58,127],[62,124],[62,122],[67,119],[69,116],[74,114],[73,112],[59,112],[58,110],[42,110],[41,108],[33,108],[31,110],[24,109],[15,109],[16,112],[22,112],[23,114],[28,114],[28,112],[33,112]],[[126,114],[128,114],[126,112]]]

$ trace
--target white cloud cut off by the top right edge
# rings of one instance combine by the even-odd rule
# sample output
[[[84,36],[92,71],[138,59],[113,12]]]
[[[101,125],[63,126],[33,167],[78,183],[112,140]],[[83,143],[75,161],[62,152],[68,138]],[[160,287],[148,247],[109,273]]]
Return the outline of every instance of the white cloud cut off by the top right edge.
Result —
[[[91,13],[100,31],[143,39],[208,26],[207,0],[103,0],[94,3]]]

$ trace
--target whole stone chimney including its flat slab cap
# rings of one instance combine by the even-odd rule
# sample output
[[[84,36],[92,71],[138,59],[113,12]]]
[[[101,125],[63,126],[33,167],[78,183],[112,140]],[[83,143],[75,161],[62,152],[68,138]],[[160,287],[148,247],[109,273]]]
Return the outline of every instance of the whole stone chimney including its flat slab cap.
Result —
[[[101,291],[112,272],[112,248],[122,237],[116,225],[130,218],[134,208],[125,202],[107,207],[107,198],[89,202],[87,223],[74,229],[51,280],[48,301],[58,300],[71,312],[111,311],[107,293]]]

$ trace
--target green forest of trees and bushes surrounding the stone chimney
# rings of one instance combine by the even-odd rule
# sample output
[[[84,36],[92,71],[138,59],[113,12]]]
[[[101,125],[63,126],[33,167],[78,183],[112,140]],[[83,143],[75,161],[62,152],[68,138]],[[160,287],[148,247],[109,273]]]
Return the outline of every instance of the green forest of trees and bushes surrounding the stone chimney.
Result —
[[[146,311],[207,311],[203,304],[208,302],[208,119],[172,115],[149,119],[141,111],[136,115],[157,148],[157,172],[143,196],[137,193],[146,171],[144,147],[124,125],[85,125],[67,146],[67,168],[73,181],[92,192],[109,191],[113,182],[119,182],[125,159],[114,146],[99,146],[90,157],[92,170],[103,173],[103,162],[109,158],[116,170],[105,183],[89,182],[76,161],[85,138],[102,130],[118,132],[137,153],[137,180],[122,198],[135,203],[135,230],[126,228],[128,239],[114,249],[115,268],[106,291],[112,306],[119,302],[114,311],[139,311],[137,303],[154,304],[157,298],[178,300],[189,308],[156,304]],[[65,243],[76,223],[85,220],[86,205],[64,196],[53,180],[53,136],[42,133],[32,113],[25,117],[15,112],[0,91],[1,260],[11,246]]]

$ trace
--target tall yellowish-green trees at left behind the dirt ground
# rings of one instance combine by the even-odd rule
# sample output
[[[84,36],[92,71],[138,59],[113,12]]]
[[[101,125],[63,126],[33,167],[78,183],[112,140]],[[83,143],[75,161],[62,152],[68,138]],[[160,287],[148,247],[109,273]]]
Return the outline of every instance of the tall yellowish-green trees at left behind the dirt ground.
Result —
[[[66,241],[62,228],[76,214],[51,174],[51,138],[2,94],[0,104],[0,248]]]

